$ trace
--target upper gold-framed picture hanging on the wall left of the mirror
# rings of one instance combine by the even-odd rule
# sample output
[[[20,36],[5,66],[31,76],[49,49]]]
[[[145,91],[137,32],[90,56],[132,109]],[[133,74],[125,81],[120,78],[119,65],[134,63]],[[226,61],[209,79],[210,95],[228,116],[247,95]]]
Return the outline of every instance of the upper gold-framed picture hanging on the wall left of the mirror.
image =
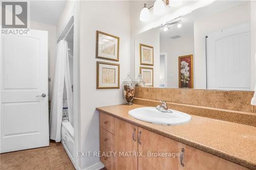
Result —
[[[97,31],[96,58],[119,61],[119,37]]]

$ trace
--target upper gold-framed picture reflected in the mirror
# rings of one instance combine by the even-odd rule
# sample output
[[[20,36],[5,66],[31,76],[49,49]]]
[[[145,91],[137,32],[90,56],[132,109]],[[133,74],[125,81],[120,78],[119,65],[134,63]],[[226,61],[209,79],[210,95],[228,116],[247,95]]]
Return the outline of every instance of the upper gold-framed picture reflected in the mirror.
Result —
[[[154,65],[154,47],[140,44],[140,64]]]

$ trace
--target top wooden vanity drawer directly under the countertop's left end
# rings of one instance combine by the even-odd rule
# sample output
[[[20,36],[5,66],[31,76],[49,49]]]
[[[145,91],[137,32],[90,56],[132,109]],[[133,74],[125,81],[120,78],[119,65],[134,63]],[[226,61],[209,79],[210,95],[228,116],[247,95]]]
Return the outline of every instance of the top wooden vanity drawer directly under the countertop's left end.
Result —
[[[111,132],[112,134],[115,134],[115,118],[100,112],[99,115],[100,120],[100,127]]]

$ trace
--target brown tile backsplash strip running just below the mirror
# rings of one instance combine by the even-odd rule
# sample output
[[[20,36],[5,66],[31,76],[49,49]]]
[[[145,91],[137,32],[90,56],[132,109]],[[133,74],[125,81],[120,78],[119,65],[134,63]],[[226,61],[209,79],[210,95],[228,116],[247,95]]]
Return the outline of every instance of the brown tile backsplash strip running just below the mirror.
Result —
[[[256,113],[253,91],[137,87],[135,98]]]

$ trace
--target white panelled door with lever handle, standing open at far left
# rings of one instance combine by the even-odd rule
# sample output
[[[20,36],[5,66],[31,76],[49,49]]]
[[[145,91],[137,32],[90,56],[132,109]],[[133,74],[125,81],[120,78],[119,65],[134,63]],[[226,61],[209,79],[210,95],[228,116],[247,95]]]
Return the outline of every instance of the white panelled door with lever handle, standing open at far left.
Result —
[[[30,30],[28,36],[1,39],[1,153],[45,147],[48,32]]]

